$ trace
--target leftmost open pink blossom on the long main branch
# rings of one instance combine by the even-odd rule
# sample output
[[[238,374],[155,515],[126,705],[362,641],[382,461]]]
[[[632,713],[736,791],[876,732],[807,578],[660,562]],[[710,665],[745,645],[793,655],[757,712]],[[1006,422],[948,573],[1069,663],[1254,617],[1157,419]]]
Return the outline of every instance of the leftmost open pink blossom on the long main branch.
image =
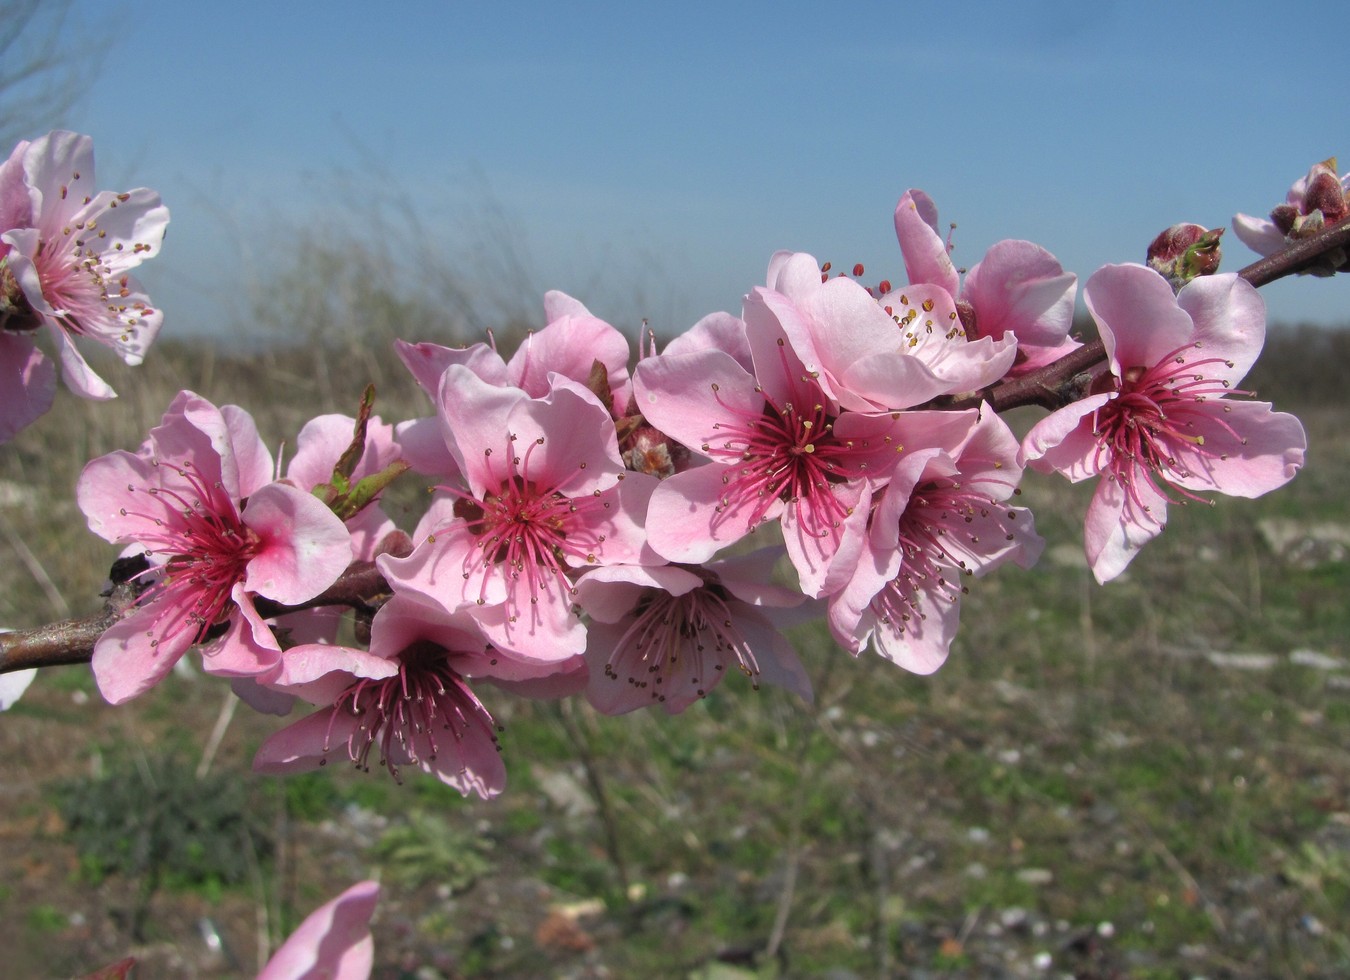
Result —
[[[252,418],[181,391],[139,452],[89,463],[76,494],[89,529],[150,560],[148,587],[93,652],[103,695],[120,703],[158,683],[193,644],[207,668],[274,667],[275,638],[252,597],[312,599],[351,562],[342,521],[313,495],[271,482]]]

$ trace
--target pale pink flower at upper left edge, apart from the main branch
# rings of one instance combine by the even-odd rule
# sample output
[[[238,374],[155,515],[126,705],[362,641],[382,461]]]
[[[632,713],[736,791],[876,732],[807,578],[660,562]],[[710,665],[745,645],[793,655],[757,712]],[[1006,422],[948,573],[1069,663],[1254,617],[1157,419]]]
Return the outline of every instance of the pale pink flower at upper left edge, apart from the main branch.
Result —
[[[22,155],[20,155],[22,150]],[[20,144],[9,165],[22,167],[27,213],[16,204],[9,173],[0,180],[5,228],[3,285],[11,309],[4,329],[46,324],[66,385],[85,398],[112,398],[74,344],[86,336],[112,347],[128,364],[144,358],[163,313],[130,270],[157,255],[169,209],[144,188],[94,192],[93,140],[51,132]]]

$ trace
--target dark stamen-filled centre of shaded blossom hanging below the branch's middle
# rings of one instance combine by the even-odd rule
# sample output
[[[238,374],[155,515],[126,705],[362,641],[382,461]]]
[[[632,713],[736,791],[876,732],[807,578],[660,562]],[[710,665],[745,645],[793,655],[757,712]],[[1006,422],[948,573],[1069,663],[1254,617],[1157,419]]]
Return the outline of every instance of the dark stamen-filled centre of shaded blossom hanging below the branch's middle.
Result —
[[[703,698],[721,680],[728,661],[759,688],[755,651],[737,629],[721,586],[701,586],[683,595],[653,589],[639,601],[632,625],[614,644],[605,676],[649,690],[657,702],[683,697],[690,688]],[[672,680],[687,684],[686,690],[675,691]]]

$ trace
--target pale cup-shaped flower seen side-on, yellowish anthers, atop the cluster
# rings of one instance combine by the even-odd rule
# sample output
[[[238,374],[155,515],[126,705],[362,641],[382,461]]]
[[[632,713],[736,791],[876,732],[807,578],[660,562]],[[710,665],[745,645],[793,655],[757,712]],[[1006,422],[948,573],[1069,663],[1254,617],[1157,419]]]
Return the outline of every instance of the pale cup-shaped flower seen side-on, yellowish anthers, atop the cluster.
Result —
[[[756,364],[786,336],[806,374],[852,412],[905,409],[991,385],[1015,355],[1013,340],[967,337],[940,286],[878,300],[848,277],[822,281],[819,263],[805,252],[774,255],[768,289],[747,297],[744,317]]]

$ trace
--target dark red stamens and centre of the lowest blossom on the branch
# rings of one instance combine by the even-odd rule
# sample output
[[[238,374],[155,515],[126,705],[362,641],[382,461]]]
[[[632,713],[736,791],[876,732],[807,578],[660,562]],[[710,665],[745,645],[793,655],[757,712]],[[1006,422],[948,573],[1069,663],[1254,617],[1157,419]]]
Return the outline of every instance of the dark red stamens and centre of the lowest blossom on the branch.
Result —
[[[497,725],[463,678],[446,660],[446,649],[420,643],[398,657],[398,674],[381,680],[360,679],[333,703],[324,755],[332,749],[332,725],[340,713],[354,715],[347,736],[347,757],[370,772],[371,749],[379,746],[379,765],[402,783],[400,765],[429,765],[447,749],[470,738],[497,744]],[[463,753],[460,753],[463,757]],[[320,760],[320,765],[327,764]],[[462,764],[460,773],[467,771]]]

